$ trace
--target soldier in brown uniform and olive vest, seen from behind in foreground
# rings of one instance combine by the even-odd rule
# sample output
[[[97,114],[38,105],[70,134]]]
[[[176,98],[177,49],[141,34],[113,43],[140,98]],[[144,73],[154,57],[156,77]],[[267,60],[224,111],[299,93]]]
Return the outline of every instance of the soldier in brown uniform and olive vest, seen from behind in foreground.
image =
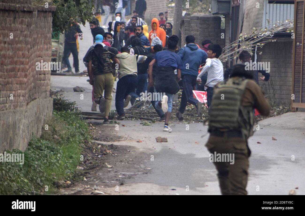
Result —
[[[245,65],[233,67],[231,77],[214,88],[210,106],[206,147],[212,154],[234,154],[234,163],[213,161],[222,195],[247,195],[249,156],[248,138],[253,135],[254,108],[268,116],[270,106],[253,73]]]

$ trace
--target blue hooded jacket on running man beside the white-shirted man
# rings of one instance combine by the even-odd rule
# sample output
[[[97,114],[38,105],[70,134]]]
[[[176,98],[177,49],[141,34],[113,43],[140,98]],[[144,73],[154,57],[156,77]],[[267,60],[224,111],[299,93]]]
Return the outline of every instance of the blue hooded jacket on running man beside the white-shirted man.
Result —
[[[181,69],[181,75],[189,74],[198,76],[198,69],[201,64],[206,62],[207,55],[196,44],[187,44],[186,47],[179,49],[178,56],[182,59],[184,69]],[[188,68],[188,69],[187,69]]]

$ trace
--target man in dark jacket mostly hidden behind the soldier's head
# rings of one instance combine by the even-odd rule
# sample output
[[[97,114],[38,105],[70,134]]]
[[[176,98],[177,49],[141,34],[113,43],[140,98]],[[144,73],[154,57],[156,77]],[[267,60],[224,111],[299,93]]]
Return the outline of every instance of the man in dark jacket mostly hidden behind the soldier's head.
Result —
[[[250,62],[251,55],[248,51],[243,50],[242,52],[239,53],[239,60],[242,63]],[[227,70],[224,71],[224,79],[227,80],[230,75],[233,72],[233,67],[228,68]],[[260,77],[261,80],[268,81],[270,78],[270,74],[266,72],[266,70],[253,70],[253,80],[259,85],[258,83],[258,73],[261,73],[263,77]]]

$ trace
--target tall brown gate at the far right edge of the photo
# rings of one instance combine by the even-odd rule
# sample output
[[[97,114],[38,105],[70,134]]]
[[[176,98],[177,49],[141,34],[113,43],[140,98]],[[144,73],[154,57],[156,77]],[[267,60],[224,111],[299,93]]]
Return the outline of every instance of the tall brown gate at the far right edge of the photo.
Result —
[[[305,0],[295,0],[293,64],[292,64],[292,110],[305,108],[305,50],[304,50]]]

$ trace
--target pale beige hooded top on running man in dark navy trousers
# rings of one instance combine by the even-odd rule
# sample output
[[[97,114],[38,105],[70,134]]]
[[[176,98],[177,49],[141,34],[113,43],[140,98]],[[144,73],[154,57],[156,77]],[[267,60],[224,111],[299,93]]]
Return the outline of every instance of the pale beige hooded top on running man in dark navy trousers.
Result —
[[[120,60],[120,66],[118,69],[119,79],[127,75],[138,76],[137,63],[143,63],[147,58],[147,56],[133,56],[127,52],[122,52],[116,56]]]

